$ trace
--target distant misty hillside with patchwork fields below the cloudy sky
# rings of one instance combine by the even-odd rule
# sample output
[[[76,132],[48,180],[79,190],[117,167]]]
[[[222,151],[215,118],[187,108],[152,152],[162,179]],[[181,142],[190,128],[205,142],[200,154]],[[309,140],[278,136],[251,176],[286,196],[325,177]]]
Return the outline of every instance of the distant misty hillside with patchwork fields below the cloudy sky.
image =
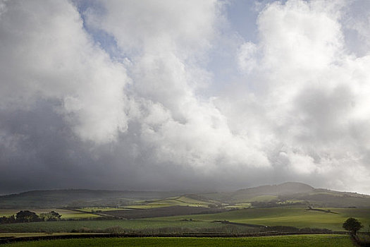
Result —
[[[370,195],[313,188],[304,183],[245,188],[228,193],[192,193],[168,191],[28,191],[0,196],[0,208],[24,207],[127,207],[145,205],[193,207],[276,207],[285,205],[312,207],[370,207]],[[143,207],[143,208],[144,208]]]

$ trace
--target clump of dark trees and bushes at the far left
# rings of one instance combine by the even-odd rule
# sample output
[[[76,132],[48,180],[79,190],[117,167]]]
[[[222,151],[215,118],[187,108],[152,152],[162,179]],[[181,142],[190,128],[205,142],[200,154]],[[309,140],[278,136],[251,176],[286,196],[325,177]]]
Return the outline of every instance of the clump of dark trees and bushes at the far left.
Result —
[[[0,224],[9,223],[22,223],[22,222],[55,222],[61,219],[61,215],[58,212],[42,212],[37,215],[35,212],[29,210],[20,210],[16,216],[11,215],[9,217],[0,217]]]

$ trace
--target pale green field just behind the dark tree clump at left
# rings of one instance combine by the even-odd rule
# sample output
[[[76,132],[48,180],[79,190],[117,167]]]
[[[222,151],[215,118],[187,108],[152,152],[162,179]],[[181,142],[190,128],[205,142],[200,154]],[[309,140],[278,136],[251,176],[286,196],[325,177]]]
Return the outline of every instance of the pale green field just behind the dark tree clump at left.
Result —
[[[66,209],[58,209],[58,208],[28,208],[24,210],[30,210],[35,212],[39,215],[42,212],[50,212],[55,211],[62,215],[62,219],[79,219],[79,218],[96,218],[100,217],[99,215],[93,215],[88,212],[78,212],[75,210],[66,210]],[[0,209],[0,217],[6,216],[9,217],[11,215],[16,215],[19,212],[19,209]],[[90,210],[91,212],[91,210]]]

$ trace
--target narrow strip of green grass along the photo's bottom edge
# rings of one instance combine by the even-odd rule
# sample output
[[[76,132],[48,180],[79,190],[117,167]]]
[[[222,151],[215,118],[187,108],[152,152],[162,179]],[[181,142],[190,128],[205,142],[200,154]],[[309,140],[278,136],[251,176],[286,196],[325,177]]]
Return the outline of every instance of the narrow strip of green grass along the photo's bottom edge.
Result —
[[[346,235],[295,235],[249,238],[97,238],[97,239],[58,239],[8,243],[8,247],[58,247],[58,246],[354,246]]]

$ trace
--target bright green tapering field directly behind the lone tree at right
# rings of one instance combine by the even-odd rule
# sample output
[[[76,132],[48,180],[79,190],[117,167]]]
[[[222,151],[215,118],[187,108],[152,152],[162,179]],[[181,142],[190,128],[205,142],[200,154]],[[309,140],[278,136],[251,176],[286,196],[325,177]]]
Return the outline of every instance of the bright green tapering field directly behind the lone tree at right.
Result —
[[[272,208],[249,208],[233,210],[209,215],[187,215],[152,218],[148,220],[176,221],[183,218],[192,218],[202,221],[228,220],[230,222],[261,224],[266,226],[291,226],[326,228],[335,231],[343,231],[342,224],[348,217],[359,219],[364,226],[370,224],[370,209],[364,208],[331,208],[331,214],[320,211],[308,211],[304,207],[272,207]]]

